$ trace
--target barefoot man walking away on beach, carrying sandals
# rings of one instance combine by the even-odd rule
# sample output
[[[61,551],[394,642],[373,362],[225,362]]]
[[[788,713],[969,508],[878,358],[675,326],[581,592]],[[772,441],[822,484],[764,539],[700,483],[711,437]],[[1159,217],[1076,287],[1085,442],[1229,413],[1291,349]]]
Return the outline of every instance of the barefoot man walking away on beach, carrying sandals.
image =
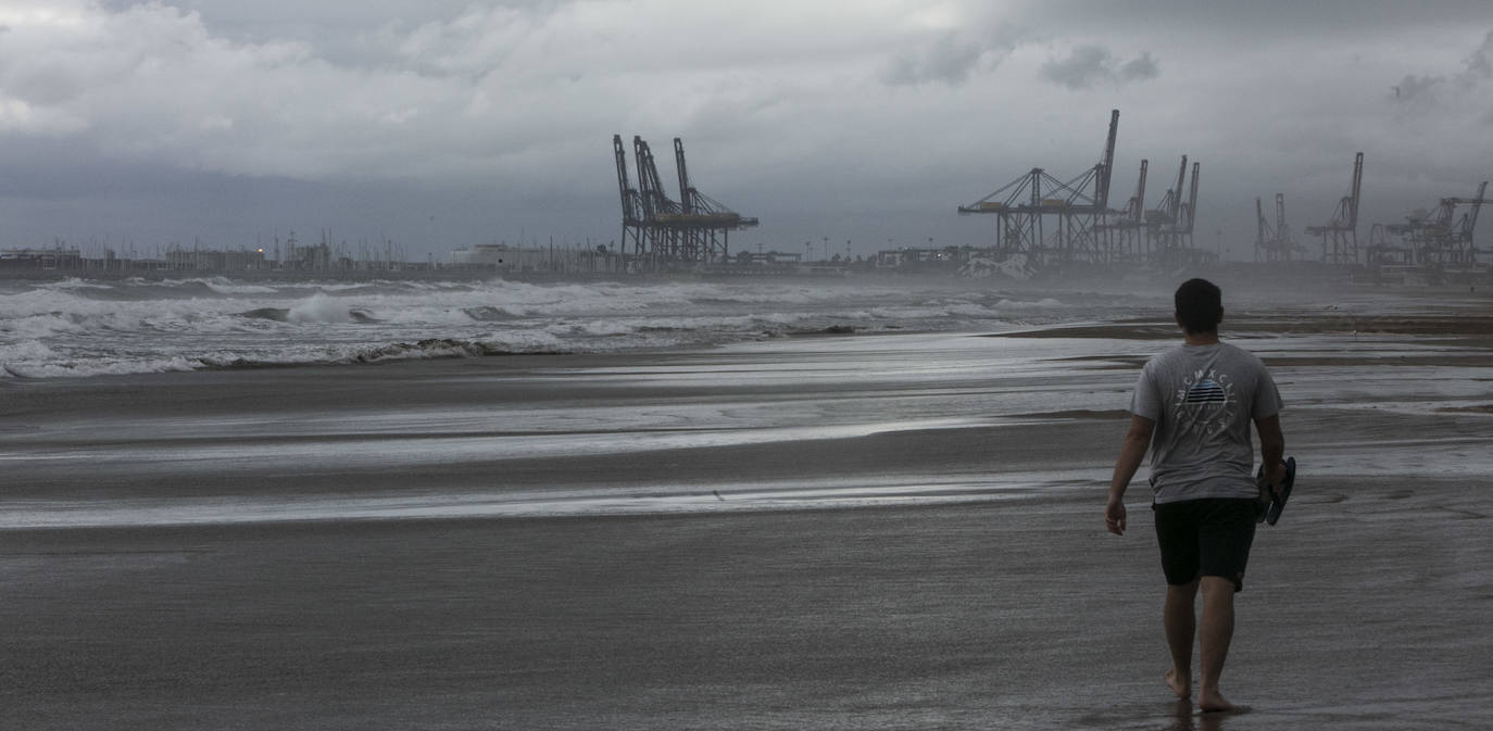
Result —
[[[1218,286],[1190,279],[1176,289],[1175,303],[1185,342],[1151,358],[1141,371],[1130,430],[1109,480],[1105,525],[1115,536],[1124,534],[1124,491],[1150,448],[1156,536],[1168,585],[1163,625],[1172,668],[1166,685],[1178,698],[1191,697],[1193,634],[1200,630],[1197,706],[1223,712],[1233,704],[1218,691],[1218,676],[1233,639],[1233,595],[1244,589],[1259,515],[1250,424],[1260,434],[1266,477],[1280,485],[1285,479],[1281,397],[1257,357],[1218,342]],[[1200,627],[1193,613],[1199,588]]]

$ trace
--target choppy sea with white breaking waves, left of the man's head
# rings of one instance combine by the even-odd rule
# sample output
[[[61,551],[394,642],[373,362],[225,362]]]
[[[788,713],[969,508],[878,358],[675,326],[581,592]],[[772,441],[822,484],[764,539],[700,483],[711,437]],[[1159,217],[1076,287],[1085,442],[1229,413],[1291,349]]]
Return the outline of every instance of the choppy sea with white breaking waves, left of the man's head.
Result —
[[[0,377],[987,331],[1165,310],[1151,294],[838,280],[0,280]]]

